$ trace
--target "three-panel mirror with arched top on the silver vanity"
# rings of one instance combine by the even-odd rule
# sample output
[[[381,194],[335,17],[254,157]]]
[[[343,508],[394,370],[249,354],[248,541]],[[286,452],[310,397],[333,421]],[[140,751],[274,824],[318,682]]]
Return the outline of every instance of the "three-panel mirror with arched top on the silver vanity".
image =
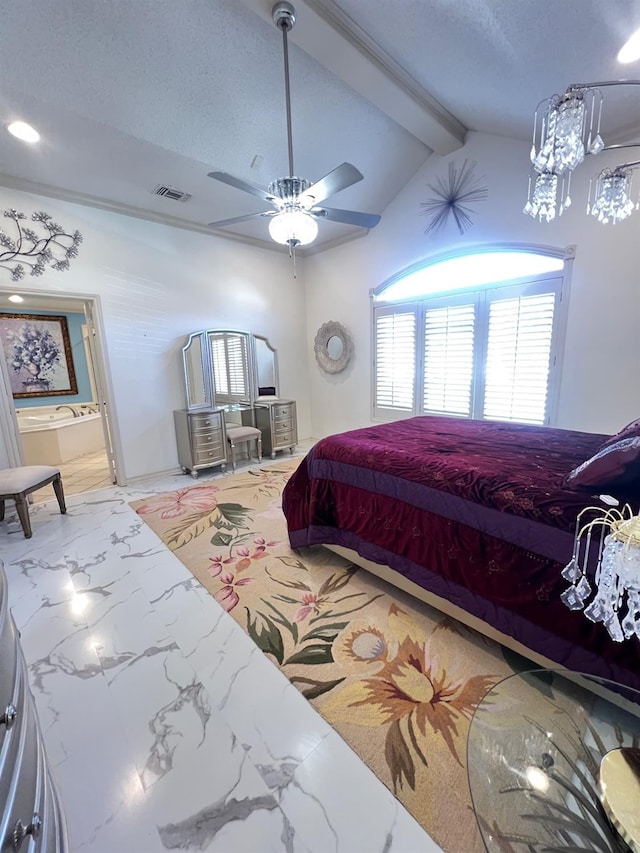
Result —
[[[252,405],[278,396],[276,351],[250,332],[193,332],[182,349],[187,408]]]

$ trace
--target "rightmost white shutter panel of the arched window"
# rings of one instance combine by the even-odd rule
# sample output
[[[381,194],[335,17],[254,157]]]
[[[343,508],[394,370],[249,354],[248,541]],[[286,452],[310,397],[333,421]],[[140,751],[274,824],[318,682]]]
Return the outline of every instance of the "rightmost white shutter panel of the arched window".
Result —
[[[484,418],[544,424],[555,292],[489,302]]]

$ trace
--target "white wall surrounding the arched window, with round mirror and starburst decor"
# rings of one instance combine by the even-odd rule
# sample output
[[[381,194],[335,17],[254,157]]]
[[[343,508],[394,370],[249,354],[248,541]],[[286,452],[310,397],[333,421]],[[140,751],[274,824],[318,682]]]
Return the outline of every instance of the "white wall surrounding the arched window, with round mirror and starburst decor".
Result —
[[[613,159],[608,153],[587,158],[574,175],[572,207],[547,224],[522,213],[529,147],[470,133],[455,154],[432,155],[366,237],[307,260],[314,436],[371,423],[369,290],[449,248],[502,241],[576,246],[557,426],[615,432],[640,416],[640,213],[605,226],[585,212],[589,177],[620,162],[620,152]],[[475,205],[475,224],[463,236],[449,222],[435,236],[426,237],[420,202],[431,195],[427,184],[447,174],[450,160],[461,164],[465,158],[477,162],[488,200]],[[366,175],[365,180],[375,180],[375,175]],[[354,342],[354,358],[337,376],[323,373],[313,357],[315,332],[328,320],[343,323]]]

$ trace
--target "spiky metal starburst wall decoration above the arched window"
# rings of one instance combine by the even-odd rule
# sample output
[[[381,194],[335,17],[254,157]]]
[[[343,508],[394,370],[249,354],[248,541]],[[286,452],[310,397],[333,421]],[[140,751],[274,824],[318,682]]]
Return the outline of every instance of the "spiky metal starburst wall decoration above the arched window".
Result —
[[[429,224],[424,233],[429,235],[439,231],[453,217],[458,231],[464,234],[473,221],[472,214],[475,213],[469,205],[480,201],[486,201],[489,191],[482,186],[480,179],[475,174],[476,164],[465,160],[461,166],[454,162],[449,163],[449,174],[447,178],[437,178],[432,184],[427,184],[432,196],[420,203],[422,216],[426,216]]]

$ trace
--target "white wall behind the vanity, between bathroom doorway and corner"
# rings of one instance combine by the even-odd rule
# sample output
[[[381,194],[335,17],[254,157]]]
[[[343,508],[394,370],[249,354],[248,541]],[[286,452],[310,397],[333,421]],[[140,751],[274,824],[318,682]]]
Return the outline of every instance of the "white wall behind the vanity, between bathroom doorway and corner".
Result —
[[[294,279],[284,248],[245,246],[0,187],[0,210],[8,207],[28,216],[46,210],[84,237],[70,270],[12,285],[0,269],[0,291],[99,296],[127,478],[178,466],[173,410],[185,405],[181,347],[197,329],[268,337],[278,351],[280,393],[297,400],[298,435],[311,434],[304,262]]]

